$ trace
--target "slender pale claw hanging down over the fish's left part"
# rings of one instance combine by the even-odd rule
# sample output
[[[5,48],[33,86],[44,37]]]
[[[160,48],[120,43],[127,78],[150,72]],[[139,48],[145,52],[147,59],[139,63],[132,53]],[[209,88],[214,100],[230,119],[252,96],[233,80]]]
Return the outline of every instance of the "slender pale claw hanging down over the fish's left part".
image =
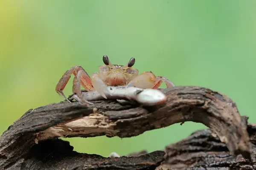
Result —
[[[92,84],[93,88],[105,99],[107,96],[105,94],[111,95],[111,92],[108,90],[108,86],[99,78],[99,74],[97,72],[92,74]]]

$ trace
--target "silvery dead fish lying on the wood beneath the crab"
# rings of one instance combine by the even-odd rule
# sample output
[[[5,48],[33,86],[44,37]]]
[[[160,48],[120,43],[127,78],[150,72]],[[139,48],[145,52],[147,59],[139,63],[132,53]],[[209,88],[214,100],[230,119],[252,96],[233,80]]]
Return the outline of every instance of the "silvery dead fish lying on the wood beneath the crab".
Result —
[[[109,93],[105,93],[107,99],[117,99],[118,102],[125,101],[136,101],[140,105],[144,106],[152,106],[152,105],[160,105],[164,104],[167,101],[167,96],[163,94],[162,91],[158,89],[151,88],[137,88],[137,87],[126,87],[126,86],[108,86]],[[81,97],[74,94],[69,98],[70,101],[73,99],[82,102],[86,101],[95,101],[105,99],[99,92],[97,91],[88,91],[81,92]]]

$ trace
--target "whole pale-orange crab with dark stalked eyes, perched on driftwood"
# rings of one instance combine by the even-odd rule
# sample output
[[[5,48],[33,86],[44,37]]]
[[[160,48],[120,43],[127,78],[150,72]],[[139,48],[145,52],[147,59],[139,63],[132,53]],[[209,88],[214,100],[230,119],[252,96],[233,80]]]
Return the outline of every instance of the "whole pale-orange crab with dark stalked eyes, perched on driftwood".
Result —
[[[151,88],[158,89],[162,82],[166,84],[166,87],[174,87],[175,85],[166,77],[155,76],[151,71],[145,71],[139,74],[137,68],[133,68],[135,64],[135,58],[131,58],[126,65],[113,65],[107,55],[103,56],[104,65],[99,66],[99,72],[94,72],[90,78],[89,74],[80,65],[75,65],[67,70],[58,84],[55,91],[64,97],[67,101],[69,99],[64,95],[63,90],[67,85],[72,74],[73,79],[73,94],[81,97],[81,86],[86,91],[97,91],[102,97],[107,99],[105,94],[110,94],[108,86],[126,86],[137,88]],[[88,101],[84,101],[89,104],[93,104]]]

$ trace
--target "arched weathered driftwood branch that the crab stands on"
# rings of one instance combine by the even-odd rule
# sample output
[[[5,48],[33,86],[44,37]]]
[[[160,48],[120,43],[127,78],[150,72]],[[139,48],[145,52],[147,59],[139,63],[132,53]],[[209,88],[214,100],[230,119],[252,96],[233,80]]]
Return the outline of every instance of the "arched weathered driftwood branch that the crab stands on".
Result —
[[[49,159],[48,156],[44,155],[45,158],[36,163],[41,164],[40,166],[51,166],[53,164],[51,162],[54,162],[54,164],[59,163],[59,165],[65,164],[67,165],[65,170],[71,170],[75,169],[71,166],[72,164],[75,166],[75,164],[78,164],[78,160],[86,162],[88,156],[94,162],[99,163],[103,157],[94,157],[73,151],[65,156],[64,154],[55,154],[56,143],[49,143],[49,141],[59,136],[93,137],[106,135],[108,137],[131,137],[140,135],[146,130],[167,127],[174,123],[186,121],[203,123],[217,134],[221,142],[227,145],[232,155],[242,154],[244,158],[251,160],[251,147],[246,121],[241,120],[236,104],[230,98],[210,89],[196,86],[167,88],[163,92],[168,96],[167,103],[155,107],[124,106],[115,100],[104,100],[94,101],[95,105],[91,105],[89,108],[78,102],[61,102],[29,110],[1,136],[0,168],[15,170],[35,167],[36,165],[31,162],[39,161],[38,154],[41,153],[32,154],[33,150],[37,148],[44,152],[45,142],[48,142],[47,147],[52,150],[52,152],[48,151],[47,154],[52,156]],[[183,126],[186,126],[186,124]],[[60,144],[59,149],[65,150],[66,147]],[[160,152],[156,153],[162,154]],[[154,155],[155,153],[150,154]],[[60,158],[60,156],[64,157]],[[148,166],[160,164],[161,156],[152,156],[152,159],[149,159],[150,156],[146,156],[147,161],[144,161],[146,159],[141,157],[144,163],[137,161],[134,164],[143,164],[144,167],[145,164]],[[103,164],[107,164],[106,160],[113,161],[113,159],[104,158]],[[119,160],[124,163],[120,165],[117,161],[113,161],[109,163],[109,166],[95,168],[113,169],[116,166],[126,166],[132,160],[136,161],[131,157],[129,160],[128,158],[119,158]],[[144,167],[136,168],[143,169]],[[77,170],[90,168],[93,169],[89,163],[76,167]]]

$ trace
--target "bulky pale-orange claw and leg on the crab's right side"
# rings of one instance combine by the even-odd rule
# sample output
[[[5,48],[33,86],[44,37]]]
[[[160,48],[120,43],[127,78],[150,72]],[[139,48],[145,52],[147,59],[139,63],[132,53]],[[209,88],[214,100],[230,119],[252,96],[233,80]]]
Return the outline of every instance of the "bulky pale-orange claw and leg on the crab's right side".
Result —
[[[137,88],[153,88],[157,89],[161,83],[164,82],[166,87],[175,87],[174,83],[167,79],[166,77],[155,76],[151,71],[146,71],[134,79],[132,79],[128,84],[127,88],[135,86]]]

